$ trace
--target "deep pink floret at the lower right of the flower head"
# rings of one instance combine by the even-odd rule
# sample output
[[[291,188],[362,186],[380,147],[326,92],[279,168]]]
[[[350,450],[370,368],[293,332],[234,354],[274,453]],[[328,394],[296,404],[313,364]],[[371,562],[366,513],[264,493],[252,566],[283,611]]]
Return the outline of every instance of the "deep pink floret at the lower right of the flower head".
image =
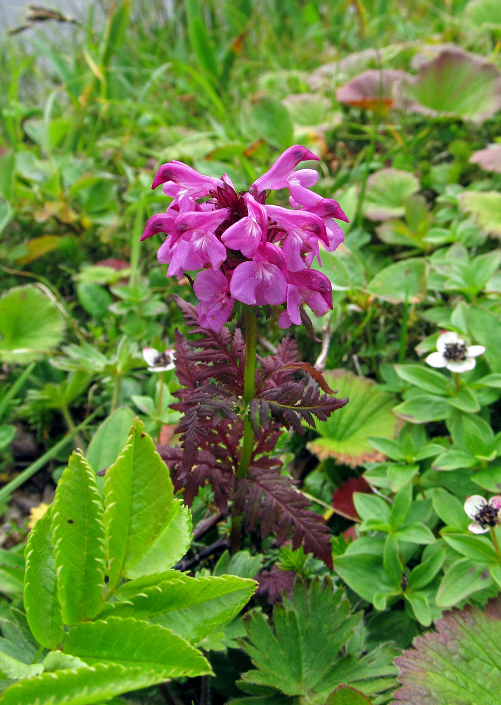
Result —
[[[332,286],[320,271],[305,269],[289,275],[287,308],[279,315],[279,328],[289,328],[291,323],[301,324],[299,307],[306,303],[317,318],[332,309]]]

